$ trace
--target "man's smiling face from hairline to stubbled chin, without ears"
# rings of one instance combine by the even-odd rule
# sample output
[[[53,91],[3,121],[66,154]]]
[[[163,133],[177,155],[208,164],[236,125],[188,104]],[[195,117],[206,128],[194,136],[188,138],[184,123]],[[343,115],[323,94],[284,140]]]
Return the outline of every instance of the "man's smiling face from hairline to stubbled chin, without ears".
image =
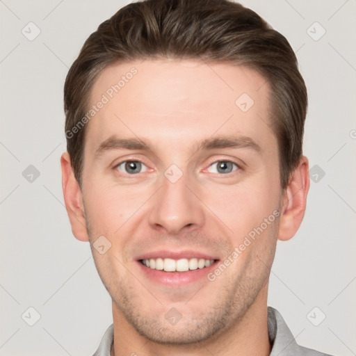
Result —
[[[90,245],[114,315],[152,341],[202,341],[266,304],[282,194],[268,90],[197,60],[112,65],[93,86]]]

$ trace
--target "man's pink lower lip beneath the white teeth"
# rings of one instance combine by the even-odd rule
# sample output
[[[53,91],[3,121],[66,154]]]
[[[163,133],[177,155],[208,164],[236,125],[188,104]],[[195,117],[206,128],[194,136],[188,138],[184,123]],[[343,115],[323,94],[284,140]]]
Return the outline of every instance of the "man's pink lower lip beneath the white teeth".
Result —
[[[190,284],[202,280],[203,278],[207,280],[207,274],[211,272],[213,268],[216,268],[217,262],[218,261],[214,261],[209,267],[187,270],[186,272],[165,272],[164,270],[154,270],[137,261],[139,268],[145,273],[146,277],[154,282],[167,286]]]

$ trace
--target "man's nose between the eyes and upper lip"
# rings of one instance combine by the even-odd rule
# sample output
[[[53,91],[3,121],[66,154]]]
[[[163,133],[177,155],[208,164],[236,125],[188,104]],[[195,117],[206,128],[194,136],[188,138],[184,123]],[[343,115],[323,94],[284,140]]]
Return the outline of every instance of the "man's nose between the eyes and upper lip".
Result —
[[[169,234],[193,231],[204,225],[204,204],[199,189],[183,175],[172,183],[163,177],[162,186],[154,195],[149,213],[152,229]]]

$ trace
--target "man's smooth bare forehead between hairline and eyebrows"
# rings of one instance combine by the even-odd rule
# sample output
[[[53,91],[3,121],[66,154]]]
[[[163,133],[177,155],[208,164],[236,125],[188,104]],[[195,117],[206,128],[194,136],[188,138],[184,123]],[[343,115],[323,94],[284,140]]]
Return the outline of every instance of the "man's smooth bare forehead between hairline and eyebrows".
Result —
[[[162,59],[111,65],[92,87],[90,103],[97,108],[86,145],[94,148],[118,134],[184,146],[218,131],[255,136],[268,145],[274,139],[268,94],[259,73],[231,63]]]

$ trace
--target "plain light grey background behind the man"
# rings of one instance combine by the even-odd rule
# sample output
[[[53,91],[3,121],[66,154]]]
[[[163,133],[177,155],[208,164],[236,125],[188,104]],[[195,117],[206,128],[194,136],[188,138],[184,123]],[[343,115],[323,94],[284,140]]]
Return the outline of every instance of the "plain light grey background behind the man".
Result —
[[[317,165],[302,227],[277,245],[268,304],[298,343],[355,355],[356,1],[242,2],[297,52],[310,103],[304,150]],[[1,356],[92,355],[112,323],[89,244],[72,236],[59,159],[67,70],[88,35],[126,3],[0,1]],[[29,22],[41,31],[32,41],[22,34]],[[318,40],[314,22],[326,31]],[[40,172],[32,182],[23,175],[29,165]],[[29,307],[40,314],[33,326]]]

